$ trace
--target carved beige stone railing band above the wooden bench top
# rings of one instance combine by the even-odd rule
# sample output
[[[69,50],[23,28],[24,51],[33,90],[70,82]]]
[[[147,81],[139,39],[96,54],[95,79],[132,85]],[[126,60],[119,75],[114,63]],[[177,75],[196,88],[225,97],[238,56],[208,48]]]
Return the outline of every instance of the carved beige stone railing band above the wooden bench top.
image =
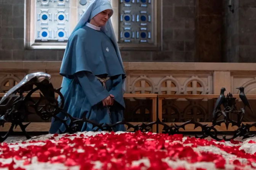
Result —
[[[152,63],[124,62],[126,93],[219,94],[221,87],[238,94],[256,94],[256,63]],[[26,74],[51,74],[53,86],[61,86],[59,61],[0,61],[0,93]]]

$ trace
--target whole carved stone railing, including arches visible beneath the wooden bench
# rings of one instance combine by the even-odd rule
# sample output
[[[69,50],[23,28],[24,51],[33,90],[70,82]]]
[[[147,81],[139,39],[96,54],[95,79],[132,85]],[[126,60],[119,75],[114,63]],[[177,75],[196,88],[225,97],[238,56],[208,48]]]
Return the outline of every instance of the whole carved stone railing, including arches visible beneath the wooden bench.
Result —
[[[256,94],[256,63],[124,62],[123,64],[127,75],[126,93],[219,94],[220,88],[225,87],[227,93],[238,94],[235,88],[243,86],[247,96]],[[58,88],[62,81],[59,75],[60,66],[61,62],[57,61],[0,61],[0,93],[8,91],[25,75],[38,71],[51,74],[51,82],[54,88]],[[190,112],[188,108],[201,105],[201,111],[195,118],[200,122],[211,121],[209,114],[211,107],[214,106],[214,99],[202,99],[197,102],[188,101],[186,98],[163,100],[162,110],[166,110],[167,113],[173,102],[178,109],[177,113],[185,114],[187,117],[190,116],[187,114]],[[151,120],[152,110],[154,110],[151,99],[146,99],[145,96],[126,98],[125,104],[127,121],[139,123]],[[251,105],[254,107],[253,104]],[[202,113],[206,116],[202,116]],[[166,122],[177,123],[188,120],[188,118],[182,119],[181,115],[167,113],[167,115],[163,114],[163,119]],[[246,122],[250,120],[256,121],[245,116]],[[47,121],[37,119],[36,116],[29,121],[49,124]],[[42,124],[42,127],[45,125]]]

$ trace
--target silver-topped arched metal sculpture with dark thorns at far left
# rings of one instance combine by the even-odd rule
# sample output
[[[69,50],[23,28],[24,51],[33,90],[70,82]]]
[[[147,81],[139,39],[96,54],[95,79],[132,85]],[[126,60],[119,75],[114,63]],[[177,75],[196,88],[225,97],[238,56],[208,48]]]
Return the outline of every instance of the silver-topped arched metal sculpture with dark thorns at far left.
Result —
[[[16,128],[17,126],[20,126],[22,132],[24,132],[28,139],[30,138],[26,132],[28,124],[22,124],[22,122],[24,122],[29,114],[35,114],[35,111],[30,111],[31,108],[33,110],[34,107],[34,110],[36,110],[42,107],[48,107],[49,105],[48,103],[39,105],[40,102],[34,101],[31,95],[39,90],[41,92],[40,99],[42,99],[42,97],[49,98],[51,99],[50,103],[53,103],[55,100],[54,93],[60,93],[60,89],[53,88],[50,80],[50,74],[45,72],[34,72],[27,74],[27,76],[25,76],[17,85],[7,91],[0,100],[0,126],[4,126],[6,122],[10,122],[11,127],[3,137],[0,136],[0,142],[3,142],[13,132],[13,128]],[[26,96],[24,96],[24,92],[27,92]],[[35,105],[37,108],[35,108]],[[39,116],[42,119],[49,118],[45,117],[43,109],[41,109]]]

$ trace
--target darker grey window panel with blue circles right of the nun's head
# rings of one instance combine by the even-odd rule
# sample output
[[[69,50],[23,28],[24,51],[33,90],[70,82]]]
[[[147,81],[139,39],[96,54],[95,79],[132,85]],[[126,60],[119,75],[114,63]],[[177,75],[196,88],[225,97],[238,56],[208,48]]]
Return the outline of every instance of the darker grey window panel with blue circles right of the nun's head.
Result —
[[[152,42],[153,0],[120,0],[120,42]]]

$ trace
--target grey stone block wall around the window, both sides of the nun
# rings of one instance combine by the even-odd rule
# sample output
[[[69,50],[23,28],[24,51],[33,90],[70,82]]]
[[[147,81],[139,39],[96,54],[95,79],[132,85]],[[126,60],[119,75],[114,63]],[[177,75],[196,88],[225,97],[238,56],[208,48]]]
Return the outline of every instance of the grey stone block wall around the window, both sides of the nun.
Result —
[[[124,61],[195,61],[195,0],[162,0],[162,49],[122,51]],[[64,50],[24,50],[24,0],[0,0],[0,60],[61,61]]]

